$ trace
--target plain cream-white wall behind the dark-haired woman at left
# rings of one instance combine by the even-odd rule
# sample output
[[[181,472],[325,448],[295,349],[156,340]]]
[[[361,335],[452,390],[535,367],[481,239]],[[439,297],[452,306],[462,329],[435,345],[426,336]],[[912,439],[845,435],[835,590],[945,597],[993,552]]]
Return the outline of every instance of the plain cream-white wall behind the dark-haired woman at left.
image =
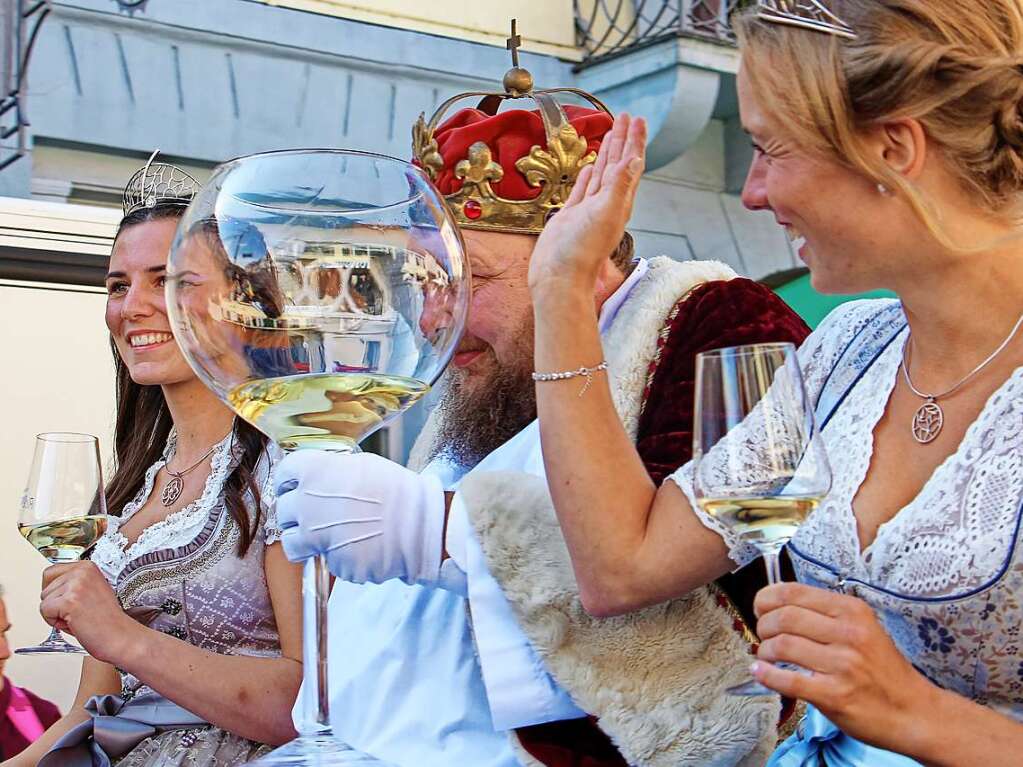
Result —
[[[17,533],[17,501],[40,432],[99,437],[107,461],[114,424],[114,367],[103,324],[105,297],[0,281],[0,583],[13,647],[36,644],[49,627],[39,617],[46,561]],[[78,656],[14,656],[5,673],[66,711],[78,689]]]

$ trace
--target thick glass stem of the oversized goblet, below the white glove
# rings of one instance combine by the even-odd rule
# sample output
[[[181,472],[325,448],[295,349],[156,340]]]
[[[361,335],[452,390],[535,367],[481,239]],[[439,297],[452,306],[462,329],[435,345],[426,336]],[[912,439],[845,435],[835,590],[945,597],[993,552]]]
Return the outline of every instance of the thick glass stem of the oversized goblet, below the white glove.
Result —
[[[306,559],[302,574],[303,695],[302,737],[329,737],[330,690],[327,676],[327,599],[330,572],[322,554]]]

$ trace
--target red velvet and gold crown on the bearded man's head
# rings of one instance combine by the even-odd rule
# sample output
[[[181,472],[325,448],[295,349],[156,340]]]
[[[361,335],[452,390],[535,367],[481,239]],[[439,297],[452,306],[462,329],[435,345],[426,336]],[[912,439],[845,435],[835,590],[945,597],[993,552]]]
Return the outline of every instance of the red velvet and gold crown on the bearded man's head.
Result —
[[[595,108],[563,105],[571,93]],[[482,97],[441,123],[448,108]],[[510,99],[537,108],[498,111]],[[458,224],[470,229],[539,233],[572,192],[579,171],[596,150],[614,118],[598,99],[574,88],[533,90],[533,78],[515,66],[504,93],[463,93],[448,99],[427,123],[412,128],[412,154],[444,194]]]

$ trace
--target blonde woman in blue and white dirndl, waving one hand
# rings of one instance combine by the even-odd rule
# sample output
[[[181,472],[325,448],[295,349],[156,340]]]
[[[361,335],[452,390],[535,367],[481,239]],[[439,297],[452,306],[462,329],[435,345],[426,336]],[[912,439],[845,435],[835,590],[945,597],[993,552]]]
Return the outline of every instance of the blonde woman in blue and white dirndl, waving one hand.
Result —
[[[771,764],[1016,764],[1023,6],[761,0],[736,26],[744,202],[801,242],[817,289],[899,297],[839,308],[799,353],[835,482],[790,546],[800,583],[757,598],[754,675],[811,705]],[[641,121],[615,131],[533,255],[537,370],[603,356],[579,318],[643,142]],[[697,510],[692,465],[654,487],[596,384],[537,387],[588,610],[674,597],[755,556]]]

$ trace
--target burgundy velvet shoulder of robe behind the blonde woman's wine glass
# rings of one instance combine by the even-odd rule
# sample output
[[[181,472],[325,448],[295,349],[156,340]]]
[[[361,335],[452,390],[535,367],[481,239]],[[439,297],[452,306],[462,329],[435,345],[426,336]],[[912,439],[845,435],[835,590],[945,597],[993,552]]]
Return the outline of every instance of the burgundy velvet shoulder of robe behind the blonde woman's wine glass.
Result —
[[[636,448],[654,482],[693,456],[697,354],[741,344],[792,342],[810,329],[788,305],[749,279],[706,282],[679,302],[662,333],[643,398]]]

